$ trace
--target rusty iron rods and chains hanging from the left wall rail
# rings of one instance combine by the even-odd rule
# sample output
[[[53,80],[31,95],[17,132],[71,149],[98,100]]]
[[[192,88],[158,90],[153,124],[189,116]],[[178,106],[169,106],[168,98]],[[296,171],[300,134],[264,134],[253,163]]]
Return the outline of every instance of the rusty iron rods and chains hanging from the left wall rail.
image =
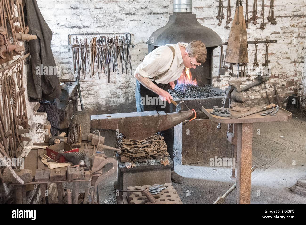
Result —
[[[6,68],[1,70],[0,151],[6,157],[19,157],[24,147],[23,142],[29,141],[28,137],[21,136],[28,133],[30,128],[23,87],[23,59],[13,63],[11,75]]]

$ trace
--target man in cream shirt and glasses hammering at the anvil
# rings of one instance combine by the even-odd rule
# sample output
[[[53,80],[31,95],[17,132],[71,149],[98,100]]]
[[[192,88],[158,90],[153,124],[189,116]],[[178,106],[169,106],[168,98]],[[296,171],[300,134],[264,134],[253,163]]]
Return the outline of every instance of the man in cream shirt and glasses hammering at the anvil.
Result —
[[[195,69],[207,58],[206,47],[203,42],[194,40],[188,43],[177,43],[160,46],[151,51],[136,68],[134,77],[136,81],[136,107],[137,112],[165,111],[170,112],[170,99],[173,99],[168,88],[174,89],[175,83],[183,72],[184,67]],[[143,98],[141,98],[143,97]],[[166,104],[146,104],[152,101],[141,99],[156,99],[159,97]],[[165,102],[164,102],[165,103]],[[173,132],[168,129],[160,132],[167,144],[170,158],[173,161]],[[175,183],[183,183],[184,178],[171,168],[171,179]]]

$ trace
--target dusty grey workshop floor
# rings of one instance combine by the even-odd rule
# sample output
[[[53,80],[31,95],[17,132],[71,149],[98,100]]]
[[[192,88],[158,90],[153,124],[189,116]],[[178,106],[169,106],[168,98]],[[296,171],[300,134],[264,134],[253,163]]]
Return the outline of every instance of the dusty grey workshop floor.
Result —
[[[305,197],[289,190],[306,173],[306,118],[299,116],[287,122],[256,123],[253,128],[252,164],[257,165],[257,169],[252,173],[251,203],[306,204]],[[114,133],[106,132],[103,136],[106,136],[106,145],[114,146]],[[112,157],[113,152],[106,151],[105,154]],[[209,163],[180,165],[174,161],[175,171],[185,178],[183,184],[173,183],[184,204],[211,204],[234,184],[230,167],[210,167]],[[116,173],[101,182],[100,204],[116,204],[115,194],[111,191],[115,180]],[[235,197],[236,190],[226,197],[225,202],[235,204]]]

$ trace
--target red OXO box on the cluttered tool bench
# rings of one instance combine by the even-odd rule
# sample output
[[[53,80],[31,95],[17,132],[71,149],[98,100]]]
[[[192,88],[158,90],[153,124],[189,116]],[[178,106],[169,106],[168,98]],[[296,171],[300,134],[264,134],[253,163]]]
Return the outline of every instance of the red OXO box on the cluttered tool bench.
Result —
[[[61,152],[79,152],[79,148],[73,148],[70,144],[67,144],[65,142],[50,145],[49,147],[46,148],[46,150],[47,150],[47,156],[60,163],[66,163],[68,161],[64,156],[61,156],[59,159],[56,159],[56,156],[59,154],[59,151],[64,150]]]

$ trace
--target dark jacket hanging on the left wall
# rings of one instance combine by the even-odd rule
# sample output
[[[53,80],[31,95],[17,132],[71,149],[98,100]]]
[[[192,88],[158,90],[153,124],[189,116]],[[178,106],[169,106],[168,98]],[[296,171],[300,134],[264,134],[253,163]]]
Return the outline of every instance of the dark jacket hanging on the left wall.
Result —
[[[29,34],[37,35],[37,40],[28,42],[31,53],[31,66],[28,71],[28,96],[33,99],[53,101],[61,96],[62,91],[57,72],[54,74],[56,65],[50,47],[52,31],[44,20],[36,0],[27,0],[25,8],[25,20],[26,25],[29,26]],[[39,71],[37,68],[40,68]],[[44,68],[48,69],[43,70]],[[41,73],[42,71],[47,73]]]

